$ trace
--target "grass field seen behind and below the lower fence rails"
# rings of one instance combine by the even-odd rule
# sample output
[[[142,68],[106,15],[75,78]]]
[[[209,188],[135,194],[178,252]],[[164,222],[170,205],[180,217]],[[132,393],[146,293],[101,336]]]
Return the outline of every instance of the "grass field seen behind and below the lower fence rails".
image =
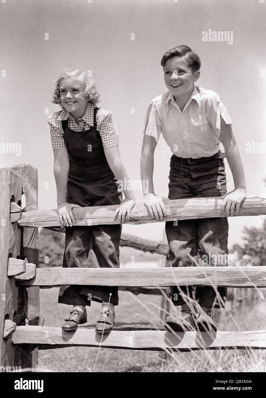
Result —
[[[41,289],[40,314],[45,326],[61,326],[71,308],[58,304],[59,288]],[[158,323],[158,296],[119,292],[115,308],[116,322]],[[142,306],[141,303],[145,305]],[[98,320],[101,304],[87,307],[88,323]],[[220,310],[219,330],[266,330],[266,302],[258,302],[232,317]],[[40,350],[38,367],[56,372],[91,372],[98,347],[65,347]],[[101,348],[95,372],[262,372],[266,371],[266,350],[232,349],[165,353],[158,351]]]

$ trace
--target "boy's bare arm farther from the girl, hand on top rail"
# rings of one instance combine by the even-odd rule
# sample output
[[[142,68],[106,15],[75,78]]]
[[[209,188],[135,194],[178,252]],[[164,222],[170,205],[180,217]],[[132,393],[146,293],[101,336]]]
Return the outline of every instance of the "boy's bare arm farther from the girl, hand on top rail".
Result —
[[[220,141],[225,148],[225,154],[235,183],[235,189],[227,193],[221,210],[222,213],[226,211],[227,217],[229,217],[231,211],[231,217],[233,217],[236,209],[236,215],[238,216],[240,205],[246,198],[246,180],[242,160],[231,125],[226,124],[222,117]]]

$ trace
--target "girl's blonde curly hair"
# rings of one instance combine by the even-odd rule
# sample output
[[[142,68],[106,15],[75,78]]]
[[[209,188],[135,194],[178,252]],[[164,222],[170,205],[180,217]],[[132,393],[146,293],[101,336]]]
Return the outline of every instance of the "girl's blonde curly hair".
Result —
[[[60,83],[64,78],[81,78],[82,83],[84,84],[84,96],[88,98],[88,102],[91,102],[94,107],[96,104],[100,102],[100,94],[96,90],[96,86],[94,80],[88,76],[88,73],[80,70],[80,69],[64,69],[59,78],[55,80],[55,90],[53,92],[53,103],[58,103],[63,108],[60,100]]]

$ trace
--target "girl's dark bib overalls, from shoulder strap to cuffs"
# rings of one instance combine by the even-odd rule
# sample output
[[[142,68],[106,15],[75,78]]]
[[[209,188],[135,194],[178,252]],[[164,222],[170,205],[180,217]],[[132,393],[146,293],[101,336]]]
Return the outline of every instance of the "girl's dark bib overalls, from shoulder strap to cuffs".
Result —
[[[86,131],[73,131],[68,127],[68,120],[62,121],[69,158],[66,201],[82,207],[119,205],[121,202],[121,190],[97,131],[98,110],[94,108],[94,125]],[[119,268],[120,237],[121,225],[66,227],[63,267]],[[108,302],[110,293],[110,303],[117,305],[117,287],[61,286],[58,302],[90,306],[90,298]]]

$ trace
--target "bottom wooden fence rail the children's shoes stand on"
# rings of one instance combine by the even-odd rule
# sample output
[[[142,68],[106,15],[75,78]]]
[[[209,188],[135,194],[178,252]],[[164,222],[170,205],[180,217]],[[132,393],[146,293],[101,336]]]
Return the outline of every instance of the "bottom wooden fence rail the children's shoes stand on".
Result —
[[[62,332],[61,328],[18,326],[12,336],[14,344],[39,344],[39,349],[73,347],[76,345],[99,347],[102,335],[92,329],[79,327],[75,332]],[[43,347],[41,346],[43,345]],[[266,348],[266,331],[170,333],[163,330],[115,331],[104,335],[102,347],[123,349],[149,349],[163,351],[190,351],[197,349]]]

